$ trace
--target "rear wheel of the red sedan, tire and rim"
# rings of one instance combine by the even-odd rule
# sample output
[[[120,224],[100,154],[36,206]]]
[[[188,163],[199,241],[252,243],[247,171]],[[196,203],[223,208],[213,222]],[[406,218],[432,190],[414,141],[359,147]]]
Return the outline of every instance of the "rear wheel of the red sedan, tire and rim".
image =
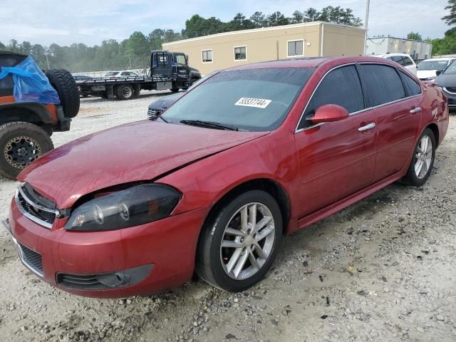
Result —
[[[425,184],[434,166],[435,145],[434,133],[430,128],[426,128],[420,135],[415,150],[413,150],[407,175],[403,179],[407,185],[420,187]]]

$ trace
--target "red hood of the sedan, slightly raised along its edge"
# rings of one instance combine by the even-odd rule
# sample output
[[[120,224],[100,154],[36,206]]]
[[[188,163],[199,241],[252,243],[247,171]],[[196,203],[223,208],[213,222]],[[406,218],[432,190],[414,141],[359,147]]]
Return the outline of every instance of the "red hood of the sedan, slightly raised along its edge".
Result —
[[[46,153],[21,172],[60,209],[96,190],[153,180],[267,132],[213,130],[150,120],[104,130]]]

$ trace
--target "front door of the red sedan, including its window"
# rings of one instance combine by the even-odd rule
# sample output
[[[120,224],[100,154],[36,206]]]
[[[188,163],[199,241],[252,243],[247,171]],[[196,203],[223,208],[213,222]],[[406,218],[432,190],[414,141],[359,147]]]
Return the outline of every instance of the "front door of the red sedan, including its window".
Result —
[[[309,118],[326,104],[346,108],[349,118],[312,124]],[[301,217],[371,185],[375,169],[375,124],[372,110],[365,108],[354,65],[333,69],[317,86],[295,134]]]

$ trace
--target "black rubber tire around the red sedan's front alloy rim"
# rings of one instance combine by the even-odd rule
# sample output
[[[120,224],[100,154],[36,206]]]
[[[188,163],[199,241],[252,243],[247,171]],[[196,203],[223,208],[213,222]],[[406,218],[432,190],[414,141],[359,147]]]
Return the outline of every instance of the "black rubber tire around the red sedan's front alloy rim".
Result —
[[[236,217],[235,214],[239,209],[246,204],[254,202],[263,204],[270,210],[275,225],[274,242],[269,256],[265,259],[264,264],[261,265],[259,270],[256,271],[257,273],[254,273],[247,279],[233,279],[222,266],[221,244],[222,239],[224,239],[225,227]],[[271,267],[279,250],[281,237],[282,216],[279,204],[277,204],[274,197],[261,190],[244,192],[242,195],[221,204],[214,214],[208,218],[206,224],[204,224],[197,247],[195,271],[201,279],[207,281],[212,286],[226,291],[244,291],[264,278],[264,274]]]

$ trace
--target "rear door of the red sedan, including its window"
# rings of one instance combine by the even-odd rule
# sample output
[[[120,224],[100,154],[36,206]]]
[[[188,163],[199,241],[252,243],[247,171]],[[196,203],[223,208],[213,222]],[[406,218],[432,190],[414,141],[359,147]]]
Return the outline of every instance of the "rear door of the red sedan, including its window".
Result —
[[[421,87],[393,66],[358,66],[377,129],[374,182],[408,165],[420,125]]]

